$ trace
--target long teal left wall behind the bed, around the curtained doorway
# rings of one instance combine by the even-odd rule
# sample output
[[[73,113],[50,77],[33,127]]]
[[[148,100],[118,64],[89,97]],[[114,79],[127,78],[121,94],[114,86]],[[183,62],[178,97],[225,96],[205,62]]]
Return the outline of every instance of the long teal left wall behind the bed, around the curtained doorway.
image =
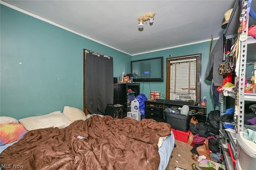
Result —
[[[2,4],[0,12],[1,116],[83,109],[83,49],[113,57],[114,77],[130,72],[130,55]]]

